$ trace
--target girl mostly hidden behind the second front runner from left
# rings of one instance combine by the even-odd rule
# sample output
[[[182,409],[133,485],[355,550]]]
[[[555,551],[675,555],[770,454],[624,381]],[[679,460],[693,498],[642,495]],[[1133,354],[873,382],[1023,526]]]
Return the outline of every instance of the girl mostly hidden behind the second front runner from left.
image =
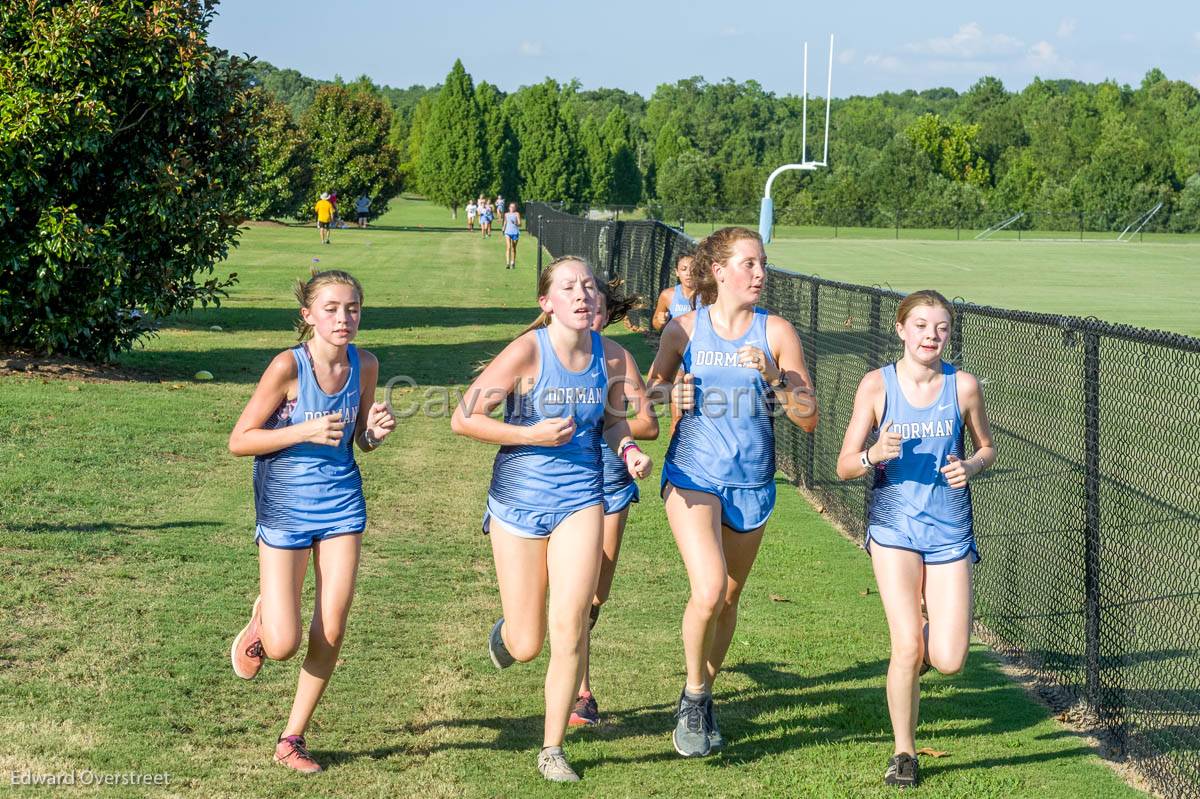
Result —
[[[592,330],[601,332],[614,322],[620,322],[637,298],[620,298],[613,287],[601,283],[596,296],[596,314]],[[655,439],[659,437],[659,420],[646,398],[646,383],[629,350],[622,348],[625,358],[624,405],[637,409],[637,415],[629,419],[629,432],[636,439]],[[600,607],[608,601],[612,578],[617,571],[617,555],[620,554],[620,541],[625,533],[625,521],[629,506],[638,501],[637,483],[612,447],[601,443],[604,457],[604,559],[600,561],[600,579],[596,583],[595,596],[592,600],[592,613],[588,623],[587,644],[583,649],[583,679],[580,683],[575,707],[571,708],[571,726],[600,723],[600,708],[592,695],[592,630],[600,618]]]

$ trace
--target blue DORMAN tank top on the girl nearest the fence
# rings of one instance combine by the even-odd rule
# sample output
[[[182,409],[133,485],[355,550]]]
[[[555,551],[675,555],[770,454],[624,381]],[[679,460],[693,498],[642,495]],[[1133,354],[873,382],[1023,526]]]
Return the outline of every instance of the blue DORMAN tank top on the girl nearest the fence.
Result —
[[[869,524],[905,529],[898,516],[938,527],[947,537],[970,531],[971,488],[952,488],[940,469],[952,452],[964,457],[962,415],[955,368],[942,361],[942,391],[925,408],[914,408],[900,390],[895,364],[883,367],[887,398],[883,420],[902,437],[900,457],[875,469]]]

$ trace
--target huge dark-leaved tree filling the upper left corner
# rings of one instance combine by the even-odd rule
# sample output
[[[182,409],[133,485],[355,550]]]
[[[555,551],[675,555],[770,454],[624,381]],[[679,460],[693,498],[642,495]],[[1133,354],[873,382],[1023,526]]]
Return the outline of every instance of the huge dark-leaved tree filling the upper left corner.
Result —
[[[217,302],[256,174],[211,4],[0,0],[0,344],[107,359]]]

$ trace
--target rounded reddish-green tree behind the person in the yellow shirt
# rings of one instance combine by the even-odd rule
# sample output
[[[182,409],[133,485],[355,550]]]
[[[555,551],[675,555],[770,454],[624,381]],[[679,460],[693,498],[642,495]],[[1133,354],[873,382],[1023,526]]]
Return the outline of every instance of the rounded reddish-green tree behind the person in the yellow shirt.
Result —
[[[312,143],[313,193],[336,191],[343,200],[365,193],[372,215],[388,210],[400,172],[388,143],[391,109],[383,100],[361,86],[322,86],[301,127]]]

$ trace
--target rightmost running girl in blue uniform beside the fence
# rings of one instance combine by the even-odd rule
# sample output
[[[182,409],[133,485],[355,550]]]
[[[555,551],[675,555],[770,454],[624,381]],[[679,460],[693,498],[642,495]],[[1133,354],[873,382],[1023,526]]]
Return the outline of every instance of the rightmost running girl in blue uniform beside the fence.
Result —
[[[842,480],[874,477],[866,549],[892,637],[887,696],[895,750],[883,780],[895,786],[920,780],[920,674],[930,667],[954,674],[966,661],[979,560],[967,481],[996,459],[979,383],[942,360],[953,324],[953,308],[937,292],[900,302],[895,330],[904,355],[859,383],[838,456]],[[970,458],[964,428],[974,441]]]

